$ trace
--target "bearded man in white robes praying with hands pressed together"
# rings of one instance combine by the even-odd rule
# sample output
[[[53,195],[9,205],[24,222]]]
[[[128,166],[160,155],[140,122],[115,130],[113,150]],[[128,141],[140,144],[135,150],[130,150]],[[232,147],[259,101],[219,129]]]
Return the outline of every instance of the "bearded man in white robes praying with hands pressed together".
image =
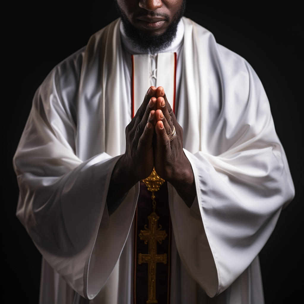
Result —
[[[294,187],[261,81],[185,1],[116,6],[40,85],[14,156],[40,303],[263,303]]]

